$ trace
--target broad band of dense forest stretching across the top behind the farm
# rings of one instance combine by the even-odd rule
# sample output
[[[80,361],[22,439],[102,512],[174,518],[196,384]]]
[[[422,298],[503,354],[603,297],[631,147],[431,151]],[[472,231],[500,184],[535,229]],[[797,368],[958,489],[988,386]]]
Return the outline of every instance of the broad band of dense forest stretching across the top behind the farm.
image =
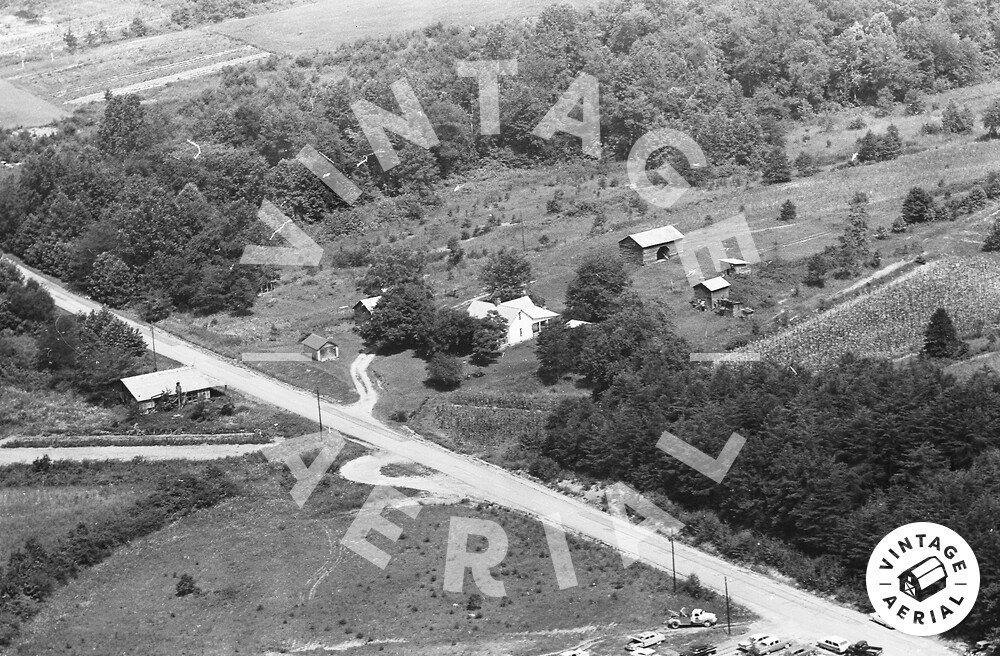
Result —
[[[0,247],[149,319],[170,308],[247,312],[272,275],[238,265],[242,247],[264,237],[255,213],[265,197],[336,237],[419,218],[440,180],[470,168],[579,157],[578,138],[532,131],[581,73],[600,83],[604,157],[673,127],[708,157],[693,182],[752,179],[788,120],[918,106],[921,92],[990,75],[997,11],[970,0],[619,0],[275,57],[181,100],[109,98],[99,120],[77,114],[54,137],[0,135],[0,158],[22,164],[0,181]],[[456,70],[481,59],[517,60],[517,74],[499,78],[497,135],[479,134],[477,81]],[[351,105],[398,111],[391,85],[403,79],[439,143],[393,137],[401,163],[382,170]],[[307,144],[362,190],[354,206],[295,162]]]

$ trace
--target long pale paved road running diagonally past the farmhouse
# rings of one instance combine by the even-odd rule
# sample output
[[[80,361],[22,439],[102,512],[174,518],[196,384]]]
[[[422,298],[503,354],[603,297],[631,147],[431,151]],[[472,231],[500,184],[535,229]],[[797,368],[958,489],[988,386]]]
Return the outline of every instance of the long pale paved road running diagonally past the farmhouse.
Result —
[[[98,308],[93,302],[67,292],[51,280],[26,269],[22,270],[26,276],[39,280],[60,308],[72,312]],[[131,321],[128,323],[138,328],[149,340],[147,326]],[[316,398],[308,391],[246,369],[236,362],[163,332],[157,332],[156,347],[157,352],[185,365],[193,365],[244,394],[302,417],[316,417]],[[355,381],[359,389],[365,385],[372,389],[370,382],[364,380],[364,373],[357,373],[360,377],[355,378]],[[654,567],[667,571],[670,569],[670,542],[662,536],[651,535],[646,529],[630,524],[627,520],[612,517],[582,501],[565,497],[489,463],[448,451],[419,436],[404,435],[392,430],[370,416],[368,403],[346,407],[331,403],[321,405],[324,426],[332,426],[368,445],[437,469],[454,479],[456,488],[464,488],[466,496],[470,498],[493,502],[536,517],[558,517],[569,531],[618,546],[621,551]],[[639,542],[642,542],[641,548],[630,546]],[[773,627],[781,635],[804,640],[815,640],[827,634],[840,635],[852,641],[867,639],[872,644],[885,647],[886,656],[954,654],[938,640],[889,631],[867,621],[866,616],[861,613],[829,603],[683,544],[676,545],[676,562],[678,574],[686,576],[697,573],[704,584],[716,590],[723,589],[725,577],[733,600],[759,614],[763,619],[763,630]]]

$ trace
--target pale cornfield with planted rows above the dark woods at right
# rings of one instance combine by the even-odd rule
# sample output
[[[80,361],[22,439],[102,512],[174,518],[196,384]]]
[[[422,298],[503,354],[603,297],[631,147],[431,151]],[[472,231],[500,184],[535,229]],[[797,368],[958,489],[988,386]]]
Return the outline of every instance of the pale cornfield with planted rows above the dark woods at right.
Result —
[[[1000,327],[1000,259],[937,260],[738,351],[815,370],[848,352],[897,358],[921,350],[924,330],[939,307],[948,311],[959,337]]]

